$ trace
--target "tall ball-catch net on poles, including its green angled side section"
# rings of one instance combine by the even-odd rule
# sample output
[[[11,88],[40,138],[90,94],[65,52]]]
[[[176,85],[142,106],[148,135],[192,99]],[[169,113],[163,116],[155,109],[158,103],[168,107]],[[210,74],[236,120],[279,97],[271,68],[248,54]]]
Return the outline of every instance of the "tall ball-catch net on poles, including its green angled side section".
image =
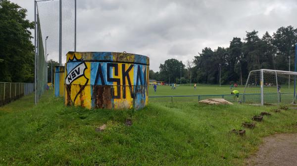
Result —
[[[75,0],[37,0],[35,5],[35,17],[37,18],[36,100],[38,102],[46,89],[46,83],[52,81],[52,76],[47,75],[47,70],[50,70],[47,61],[59,62],[60,18],[61,61],[59,63],[65,64],[67,52],[75,51]]]

